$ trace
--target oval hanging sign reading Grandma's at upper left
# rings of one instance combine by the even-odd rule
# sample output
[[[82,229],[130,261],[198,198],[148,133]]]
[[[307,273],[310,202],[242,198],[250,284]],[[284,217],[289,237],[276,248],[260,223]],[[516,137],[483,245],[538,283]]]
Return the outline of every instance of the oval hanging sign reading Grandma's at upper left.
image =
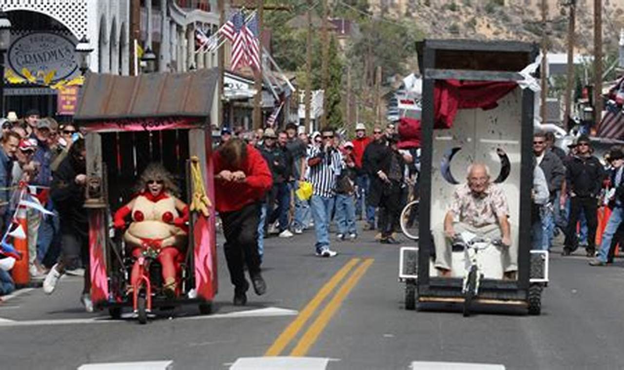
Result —
[[[48,85],[76,72],[75,49],[76,44],[60,34],[32,32],[12,42],[7,59],[17,75]]]

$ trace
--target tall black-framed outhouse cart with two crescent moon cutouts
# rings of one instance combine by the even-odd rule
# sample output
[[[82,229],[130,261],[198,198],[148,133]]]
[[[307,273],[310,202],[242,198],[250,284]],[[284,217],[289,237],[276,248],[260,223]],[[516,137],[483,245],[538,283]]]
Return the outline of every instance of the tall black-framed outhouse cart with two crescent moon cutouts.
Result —
[[[477,305],[507,305],[539,315],[548,282],[548,252],[531,250],[539,49],[524,42],[471,40],[425,40],[418,49],[419,240],[417,247],[403,247],[399,258],[405,306],[462,304],[467,316]],[[454,192],[474,163],[490,169],[492,183],[506,197],[510,245],[466,233],[454,243],[444,234]],[[442,254],[451,265],[446,275],[437,268]]]

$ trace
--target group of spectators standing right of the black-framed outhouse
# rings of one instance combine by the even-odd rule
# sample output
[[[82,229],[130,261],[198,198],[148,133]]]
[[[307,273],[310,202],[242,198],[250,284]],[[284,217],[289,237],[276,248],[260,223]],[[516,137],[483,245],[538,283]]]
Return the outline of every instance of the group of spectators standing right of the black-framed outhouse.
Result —
[[[578,136],[566,152],[555,146],[552,133],[541,131],[534,134],[533,148],[533,249],[550,250],[553,238],[562,233],[564,256],[580,247],[590,258],[590,265],[612,263],[617,245],[624,245],[624,230],[620,229],[624,149],[613,146],[601,161],[594,155],[588,136]],[[539,190],[544,187],[547,192]],[[544,192],[548,197],[538,195]],[[599,215],[606,225],[603,228],[598,227]]]

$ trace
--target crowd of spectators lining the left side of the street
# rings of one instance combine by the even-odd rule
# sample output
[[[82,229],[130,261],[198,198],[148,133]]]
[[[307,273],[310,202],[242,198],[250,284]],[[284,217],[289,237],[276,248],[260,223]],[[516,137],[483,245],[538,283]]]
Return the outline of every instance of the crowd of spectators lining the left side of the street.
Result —
[[[28,273],[31,280],[43,280],[55,265],[63,247],[60,218],[45,216],[57,214],[55,199],[58,185],[55,174],[71,161],[73,145],[84,152],[82,133],[72,123],[59,124],[54,118],[41,117],[37,110],[27,111],[22,118],[9,112],[0,118],[2,139],[0,145],[0,226],[2,235],[15,225],[14,216],[19,201],[28,201],[35,207],[26,209]],[[82,153],[84,154],[84,153]],[[76,157],[76,156],[74,156]],[[82,158],[84,161],[84,158]],[[84,176],[84,170],[80,173]],[[72,181],[75,179],[72,179]],[[58,181],[57,181],[58,183]],[[80,183],[76,183],[80,187]],[[75,188],[74,190],[79,190]],[[47,212],[42,212],[45,210]],[[2,239],[4,242],[5,239]],[[4,257],[4,258],[2,258]],[[0,257],[0,295],[14,289],[11,258]],[[82,259],[67,267],[72,272],[84,273]],[[89,303],[89,296],[82,297]]]

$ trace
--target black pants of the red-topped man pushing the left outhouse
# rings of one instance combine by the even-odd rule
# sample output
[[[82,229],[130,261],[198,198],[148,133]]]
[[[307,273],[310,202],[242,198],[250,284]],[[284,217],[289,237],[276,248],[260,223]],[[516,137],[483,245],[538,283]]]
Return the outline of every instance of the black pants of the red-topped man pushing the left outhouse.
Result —
[[[238,290],[247,287],[243,263],[246,263],[251,276],[260,272],[258,207],[257,203],[252,203],[238,211],[220,213],[225,235],[225,259],[230,270],[230,280]]]

